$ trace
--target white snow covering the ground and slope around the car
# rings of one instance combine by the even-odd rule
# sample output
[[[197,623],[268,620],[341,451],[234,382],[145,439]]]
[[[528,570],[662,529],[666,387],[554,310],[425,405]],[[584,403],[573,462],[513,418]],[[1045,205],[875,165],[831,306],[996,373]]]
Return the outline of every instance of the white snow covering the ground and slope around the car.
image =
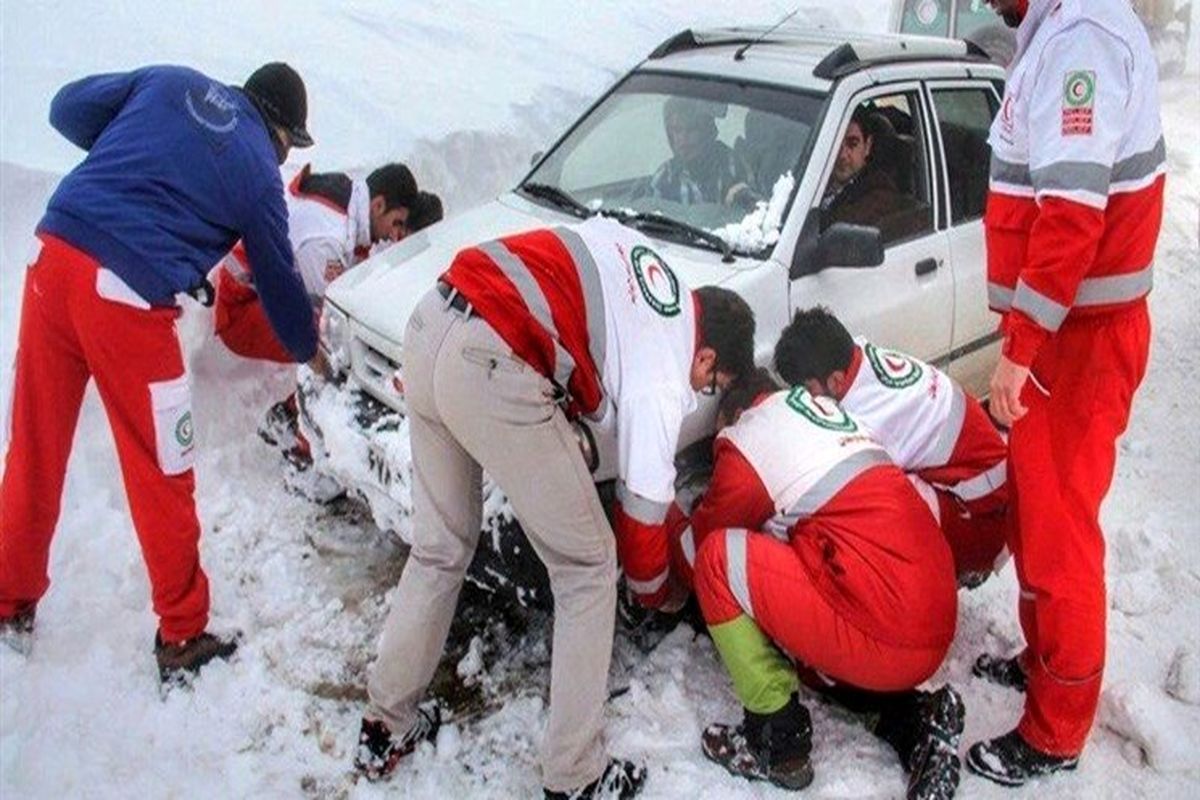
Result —
[[[398,5],[398,4],[396,4]],[[61,83],[92,71],[186,62],[240,80],[282,58],[305,73],[322,168],[414,164],[451,210],[518,176],[528,156],[624,68],[689,24],[727,23],[727,4],[74,2],[0,4],[0,365],[12,362],[31,231],[58,175],[78,160],[46,125]],[[787,2],[743,2],[768,22]],[[808,4],[818,5],[818,4]],[[844,4],[827,4],[846,14]],[[853,5],[878,28],[884,0]],[[412,6],[412,7],[407,7]],[[964,798],[1200,796],[1200,95],[1163,85],[1170,161],[1150,373],[1104,511],[1109,669],[1079,772],[1009,793],[965,776]],[[535,679],[496,714],[443,732],[384,787],[347,780],[361,686],[403,554],[364,518],[284,493],[253,435],[278,374],[238,362],[182,323],[194,377],[203,559],[214,626],[246,640],[233,664],[162,699],[155,620],[112,437],[84,407],[29,658],[0,651],[0,795],[533,796],[545,721]],[[7,368],[0,408],[11,393]],[[1019,696],[974,680],[984,649],[1020,640],[1012,570],[964,595],[959,638],[935,682],[967,702],[967,739],[1007,730]],[[479,652],[462,669],[478,667]],[[486,651],[482,654],[486,662]],[[648,798],[764,798],[700,754],[700,730],[738,710],[710,644],[684,631],[644,660],[622,651],[630,690],[610,709],[613,752],[646,760]],[[535,640],[526,654],[538,664]],[[902,794],[895,758],[844,714],[815,704],[817,778],[803,796]]]

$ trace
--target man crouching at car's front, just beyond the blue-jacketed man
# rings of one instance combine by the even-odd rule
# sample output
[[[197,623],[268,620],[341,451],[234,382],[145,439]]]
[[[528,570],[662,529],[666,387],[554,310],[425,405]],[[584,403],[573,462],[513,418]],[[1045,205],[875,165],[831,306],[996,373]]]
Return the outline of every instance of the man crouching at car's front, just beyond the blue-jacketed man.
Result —
[[[398,163],[376,169],[366,180],[313,173],[307,164],[296,174],[286,193],[288,234],[314,318],[330,282],[362,260],[373,245],[409,233],[419,196],[413,174]],[[292,363],[266,318],[245,247],[234,247],[215,272],[214,330],[222,343],[247,359]],[[332,479],[311,469],[294,392],[266,411],[258,433],[282,451],[289,488],[317,501],[342,493]]]

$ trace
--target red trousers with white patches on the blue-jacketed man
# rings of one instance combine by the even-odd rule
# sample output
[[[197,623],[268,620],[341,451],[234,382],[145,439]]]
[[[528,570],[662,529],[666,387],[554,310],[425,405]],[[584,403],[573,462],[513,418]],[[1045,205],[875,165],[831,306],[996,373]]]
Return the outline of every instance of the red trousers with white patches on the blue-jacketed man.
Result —
[[[84,389],[95,378],[162,638],[188,639],[208,625],[179,314],[146,306],[86,253],[42,235],[25,277],[12,438],[0,482],[0,615],[36,603],[49,587],[71,441]]]

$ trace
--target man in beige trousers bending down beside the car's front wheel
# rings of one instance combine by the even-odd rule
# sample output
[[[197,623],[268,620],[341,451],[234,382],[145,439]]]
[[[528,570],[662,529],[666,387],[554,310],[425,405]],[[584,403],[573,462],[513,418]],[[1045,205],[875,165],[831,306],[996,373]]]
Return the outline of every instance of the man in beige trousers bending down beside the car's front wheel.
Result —
[[[611,219],[455,257],[404,337],[413,549],[367,686],[360,771],[389,775],[438,727],[437,711],[418,703],[479,540],[486,470],[546,564],[554,599],[546,796],[641,789],[642,766],[605,754],[617,547],[572,420],[616,434],[617,535],[649,542],[635,578],[653,601],[665,591],[680,423],[697,391],[731,383],[752,359],[754,314],[740,297],[689,290],[649,240]]]

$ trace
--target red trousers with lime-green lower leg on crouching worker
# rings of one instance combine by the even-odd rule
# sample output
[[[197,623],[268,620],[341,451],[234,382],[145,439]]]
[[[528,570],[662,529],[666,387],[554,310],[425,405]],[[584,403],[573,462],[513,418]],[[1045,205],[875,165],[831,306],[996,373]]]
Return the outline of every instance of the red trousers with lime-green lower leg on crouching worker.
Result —
[[[792,545],[770,534],[713,531],[696,554],[695,576],[696,597],[714,640],[722,626],[749,618],[786,654],[840,682],[872,691],[912,688],[946,656],[944,646],[898,646],[863,633],[821,595]],[[776,687],[763,690],[767,694],[781,691],[785,681],[761,646],[738,654],[737,667],[725,648],[721,655],[740,684],[743,704],[764,685]]]

